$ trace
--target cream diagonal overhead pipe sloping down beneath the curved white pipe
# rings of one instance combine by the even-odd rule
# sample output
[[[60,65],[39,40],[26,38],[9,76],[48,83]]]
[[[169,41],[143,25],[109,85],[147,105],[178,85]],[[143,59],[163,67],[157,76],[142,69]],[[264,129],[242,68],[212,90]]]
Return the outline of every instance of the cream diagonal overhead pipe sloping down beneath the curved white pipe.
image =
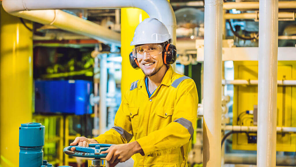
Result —
[[[14,0],[2,1],[3,7],[8,3],[18,4],[21,2],[15,2]],[[8,11],[11,10],[8,9]],[[52,25],[62,30],[70,31],[76,34],[88,36],[107,44],[112,43],[120,46],[120,33],[112,31],[91,21],[84,20],[75,15],[71,15],[62,10],[17,11],[9,12],[9,14],[41,24]]]

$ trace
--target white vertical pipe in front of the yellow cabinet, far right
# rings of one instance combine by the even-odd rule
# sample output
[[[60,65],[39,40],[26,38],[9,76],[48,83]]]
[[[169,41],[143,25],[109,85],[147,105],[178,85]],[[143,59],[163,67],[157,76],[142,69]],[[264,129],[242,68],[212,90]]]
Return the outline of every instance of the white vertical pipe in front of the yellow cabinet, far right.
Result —
[[[276,166],[278,0],[260,0],[257,166]]]

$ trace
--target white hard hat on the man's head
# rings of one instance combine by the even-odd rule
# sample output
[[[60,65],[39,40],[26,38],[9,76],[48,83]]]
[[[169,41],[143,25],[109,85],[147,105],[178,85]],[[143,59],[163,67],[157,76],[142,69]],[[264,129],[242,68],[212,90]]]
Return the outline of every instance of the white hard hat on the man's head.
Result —
[[[156,18],[147,18],[136,28],[132,45],[157,44],[168,41],[172,42],[172,37],[168,33],[166,26]]]

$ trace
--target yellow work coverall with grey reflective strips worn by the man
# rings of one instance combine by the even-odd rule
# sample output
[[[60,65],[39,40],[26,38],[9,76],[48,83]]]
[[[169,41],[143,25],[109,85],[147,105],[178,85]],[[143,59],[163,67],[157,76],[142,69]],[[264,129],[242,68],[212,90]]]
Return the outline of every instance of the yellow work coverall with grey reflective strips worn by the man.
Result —
[[[144,151],[144,156],[135,154],[134,167],[185,167],[197,105],[194,81],[169,66],[150,98],[145,78],[133,82],[115,115],[114,127],[94,139],[124,144],[134,137]]]

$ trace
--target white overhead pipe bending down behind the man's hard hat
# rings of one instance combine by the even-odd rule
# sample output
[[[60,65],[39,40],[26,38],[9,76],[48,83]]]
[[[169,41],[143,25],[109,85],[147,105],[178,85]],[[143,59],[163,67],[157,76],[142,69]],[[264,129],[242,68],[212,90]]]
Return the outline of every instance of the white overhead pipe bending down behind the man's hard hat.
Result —
[[[36,0],[3,0],[2,5],[8,13],[12,15],[17,15],[18,17],[25,17],[26,15],[30,15],[31,18],[28,19],[32,20],[35,18],[36,22],[40,22],[42,20],[42,18],[46,14],[42,12],[42,10],[47,9],[114,9],[135,7],[147,12],[149,17],[157,18],[158,20],[163,22],[173,38],[173,44],[176,44],[176,17],[172,6],[167,0],[39,0],[38,3],[36,3]],[[30,10],[38,10],[39,13],[34,13],[36,11]],[[76,18],[76,21],[79,21],[78,23],[68,25],[68,21],[70,20],[64,20],[63,23],[59,23],[63,25],[61,29],[63,29],[64,26],[70,26],[69,29],[71,30],[72,28],[75,28],[75,26],[79,27],[79,25],[77,24],[81,23],[81,20],[78,20],[78,17]],[[83,31],[87,30],[83,29]],[[113,34],[115,34],[116,36],[118,35],[114,33],[114,31],[112,31],[112,33],[102,33],[108,36],[112,36]]]

